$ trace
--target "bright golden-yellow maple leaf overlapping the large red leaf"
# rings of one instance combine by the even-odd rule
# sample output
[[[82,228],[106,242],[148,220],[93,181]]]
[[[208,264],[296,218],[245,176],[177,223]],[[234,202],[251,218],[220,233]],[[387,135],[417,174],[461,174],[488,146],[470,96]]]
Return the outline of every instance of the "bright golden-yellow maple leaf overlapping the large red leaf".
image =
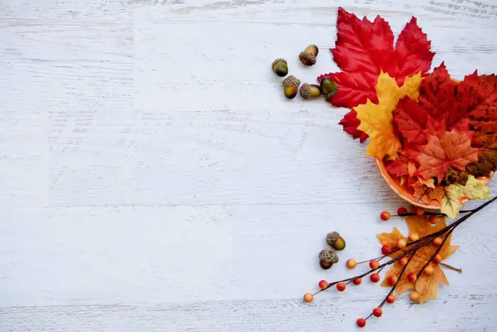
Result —
[[[389,74],[381,72],[375,87],[378,104],[368,100],[366,104],[354,107],[357,111],[357,118],[361,121],[357,128],[369,135],[367,156],[383,159],[385,155],[389,155],[391,159],[396,158],[401,142],[393,132],[392,111],[404,96],[417,101],[420,85],[420,72],[413,77],[407,77],[402,87],[398,87],[396,80]]]

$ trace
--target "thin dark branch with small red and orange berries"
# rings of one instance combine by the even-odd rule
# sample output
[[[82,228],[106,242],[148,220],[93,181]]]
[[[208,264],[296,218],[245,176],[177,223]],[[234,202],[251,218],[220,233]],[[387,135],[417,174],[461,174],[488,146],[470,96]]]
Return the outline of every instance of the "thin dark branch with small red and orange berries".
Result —
[[[445,228],[442,228],[440,231],[436,231],[435,233],[432,233],[428,236],[423,236],[420,238],[420,236],[418,236],[417,234],[410,234],[408,237],[408,241],[406,241],[405,239],[398,240],[395,248],[391,248],[388,245],[384,245],[381,248],[381,253],[383,255],[380,256],[379,258],[374,258],[372,260],[365,260],[363,262],[356,262],[353,259],[347,260],[347,267],[349,269],[354,269],[355,267],[357,267],[357,265],[368,262],[370,270],[362,273],[361,275],[350,277],[350,278],[347,278],[345,280],[339,280],[336,282],[327,282],[326,280],[321,280],[318,283],[318,287],[320,288],[320,290],[318,292],[315,292],[314,294],[306,293],[303,296],[303,300],[306,301],[307,303],[310,303],[311,301],[313,301],[314,296],[316,294],[323,292],[327,289],[330,289],[330,287],[333,287],[333,286],[335,286],[339,292],[343,292],[347,288],[347,284],[352,283],[352,284],[358,286],[359,284],[362,283],[362,278],[366,277],[367,275],[369,275],[369,280],[371,280],[371,282],[375,282],[375,283],[379,282],[379,280],[380,280],[379,273],[381,272],[381,270],[384,269],[384,267],[387,267],[387,266],[393,265],[393,264],[398,264],[399,267],[402,267],[401,272],[398,275],[390,275],[387,278],[387,282],[391,286],[391,289],[390,289],[389,293],[386,295],[386,297],[383,299],[383,301],[381,301],[381,304],[379,304],[379,306],[374,308],[372,310],[372,313],[369,314],[369,316],[367,316],[365,319],[364,318],[357,319],[357,321],[356,321],[357,326],[359,326],[361,328],[366,326],[366,321],[371,316],[381,317],[381,315],[383,314],[382,308],[383,308],[384,304],[386,304],[386,303],[393,304],[393,302],[395,302],[395,296],[393,295],[393,291],[396,289],[398,282],[401,280],[401,277],[403,277],[404,272],[406,271],[406,267],[408,267],[409,262],[411,262],[411,259],[413,259],[415,257],[415,254],[418,252],[418,250],[423,248],[425,245],[435,245],[435,247],[436,247],[436,250],[432,254],[432,256],[430,257],[430,260],[428,260],[425,263],[425,265],[423,267],[421,267],[417,273],[409,272],[407,274],[408,282],[411,282],[413,284],[415,284],[415,282],[420,278],[420,275],[422,273],[425,275],[432,275],[434,272],[434,267],[432,266],[433,264],[443,265],[443,263],[441,263],[442,256],[439,254],[439,252],[440,252],[440,249],[442,248],[442,246],[444,245],[444,243],[447,241],[447,238],[449,238],[449,236],[454,231],[454,229],[457,228],[457,226],[459,226],[465,220],[467,220],[467,218],[469,218],[470,216],[472,216],[476,212],[480,211],[488,204],[491,204],[496,199],[497,199],[497,197],[494,197],[493,199],[487,201],[485,204],[482,204],[478,208],[471,210],[471,211],[466,211],[468,213],[466,216],[459,218],[459,220],[454,221],[449,226],[446,226]],[[408,211],[405,208],[398,209],[398,216],[409,216],[409,215],[411,215],[411,216],[418,215],[419,216],[419,215],[423,215],[423,214],[427,214],[427,213],[425,213],[423,210],[419,211],[418,209],[416,209],[416,211],[413,211],[411,213],[408,213]],[[428,214],[430,214],[430,213],[428,213]],[[384,211],[381,213],[381,218],[384,220],[388,220],[388,218],[384,218],[384,216],[385,217],[388,216],[388,218],[389,218],[390,214],[387,211]],[[439,214],[430,214],[430,219],[432,219],[431,216],[437,218],[437,216],[439,216]],[[435,219],[435,218],[433,218],[433,219]],[[430,223],[431,222],[432,221],[430,220]],[[395,253],[398,255],[392,255]],[[390,258],[390,259],[387,260],[386,262],[383,262],[383,263],[381,262],[382,260],[388,259],[388,258]],[[454,267],[450,267],[449,265],[444,265],[444,266],[449,267],[452,270],[456,270],[456,271],[461,272],[461,270],[455,269]],[[417,292],[415,290],[415,287],[413,288],[413,291],[410,294],[410,299],[411,299],[411,301],[414,301],[414,302],[417,302],[420,300],[420,294],[419,294],[419,292]]]

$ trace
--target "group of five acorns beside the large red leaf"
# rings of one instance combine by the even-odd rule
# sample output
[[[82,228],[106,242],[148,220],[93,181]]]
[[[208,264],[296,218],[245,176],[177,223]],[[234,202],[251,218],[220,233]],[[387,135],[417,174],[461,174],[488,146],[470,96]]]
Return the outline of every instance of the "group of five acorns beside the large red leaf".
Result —
[[[309,45],[298,55],[298,59],[301,60],[303,65],[312,66],[316,62],[318,52],[319,50],[316,45]],[[274,60],[271,67],[274,74],[277,74],[279,77],[286,77],[289,72],[288,62],[282,58]],[[294,99],[299,88],[303,99],[315,99],[319,96],[330,99],[338,92],[338,84],[328,78],[322,79],[319,85],[308,83],[301,85],[300,79],[290,75],[289,77],[286,77],[281,84],[283,85],[284,96],[288,99]]]

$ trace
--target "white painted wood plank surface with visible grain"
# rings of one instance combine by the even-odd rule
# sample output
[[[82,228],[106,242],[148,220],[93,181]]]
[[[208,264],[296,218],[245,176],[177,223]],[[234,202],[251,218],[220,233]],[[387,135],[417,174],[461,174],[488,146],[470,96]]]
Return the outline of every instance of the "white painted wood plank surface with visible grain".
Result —
[[[270,70],[335,70],[337,6],[417,16],[455,77],[497,69],[494,0],[1,0],[0,331],[354,331],[386,289],[301,296],[350,275],[318,267],[325,233],[370,258],[401,201],[346,110]],[[496,214],[457,229],[437,301],[368,331],[496,331]]]

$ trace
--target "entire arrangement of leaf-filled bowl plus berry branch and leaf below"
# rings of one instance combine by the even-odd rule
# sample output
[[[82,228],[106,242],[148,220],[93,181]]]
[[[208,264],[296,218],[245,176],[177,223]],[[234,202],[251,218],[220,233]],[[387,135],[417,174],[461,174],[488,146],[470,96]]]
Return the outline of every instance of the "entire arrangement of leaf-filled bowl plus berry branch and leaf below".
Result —
[[[368,263],[369,270],[345,280],[321,280],[318,292],[304,295],[311,302],[331,287],[339,292],[357,287],[364,277],[380,282],[379,273],[388,269],[381,286],[390,290],[369,316],[357,319],[359,327],[372,316],[380,317],[384,305],[405,292],[420,304],[436,299],[439,285],[448,284],[442,267],[462,272],[443,262],[458,248],[451,245],[452,232],[497,200],[490,199],[487,188],[497,170],[496,75],[475,71],[459,82],[443,62],[429,72],[435,53],[414,17],[395,46],[393,40],[384,18],[376,16],[371,22],[340,8],[331,52],[341,71],[318,77],[319,82],[327,78],[337,83],[337,92],[326,99],[351,109],[340,125],[361,143],[369,138],[366,155],[376,159],[415,205],[440,209],[398,209],[395,216],[406,218],[408,236],[397,228],[378,234],[381,256],[347,260],[349,269]],[[487,201],[461,210],[469,199]],[[447,225],[447,217],[459,214],[464,216]],[[381,213],[381,219],[389,218],[388,212]]]

